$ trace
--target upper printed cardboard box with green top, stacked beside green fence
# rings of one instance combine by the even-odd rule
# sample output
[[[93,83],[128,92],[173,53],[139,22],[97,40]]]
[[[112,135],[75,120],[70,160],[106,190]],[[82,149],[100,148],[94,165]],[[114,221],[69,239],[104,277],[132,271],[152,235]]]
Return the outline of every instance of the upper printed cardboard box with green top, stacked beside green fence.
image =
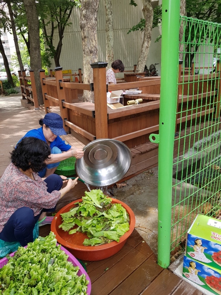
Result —
[[[186,256],[221,270],[221,221],[199,214],[186,238]]]

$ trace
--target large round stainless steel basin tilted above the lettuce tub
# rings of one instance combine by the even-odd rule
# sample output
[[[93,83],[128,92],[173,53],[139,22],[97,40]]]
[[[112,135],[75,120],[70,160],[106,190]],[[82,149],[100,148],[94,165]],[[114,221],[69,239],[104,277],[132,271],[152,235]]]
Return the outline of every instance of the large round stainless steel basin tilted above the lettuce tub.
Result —
[[[130,149],[121,141],[96,139],[83,150],[84,156],[75,162],[75,171],[90,185],[112,185],[121,180],[131,166]]]

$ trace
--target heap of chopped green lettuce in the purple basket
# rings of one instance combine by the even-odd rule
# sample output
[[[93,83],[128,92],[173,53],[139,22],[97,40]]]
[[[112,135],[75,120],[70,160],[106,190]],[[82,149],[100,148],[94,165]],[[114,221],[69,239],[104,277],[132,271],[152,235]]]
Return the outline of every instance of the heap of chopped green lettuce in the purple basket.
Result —
[[[7,256],[8,263],[0,269],[0,294],[86,295],[85,274],[77,275],[79,267],[67,261],[68,255],[56,243],[51,232]]]

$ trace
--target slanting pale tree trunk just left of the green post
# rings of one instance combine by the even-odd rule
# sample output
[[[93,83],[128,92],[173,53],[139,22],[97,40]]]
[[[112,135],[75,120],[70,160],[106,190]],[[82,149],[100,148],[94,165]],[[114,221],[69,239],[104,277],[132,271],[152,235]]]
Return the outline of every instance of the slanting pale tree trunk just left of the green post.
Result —
[[[143,2],[143,12],[145,13],[145,29],[144,37],[140,50],[140,56],[137,62],[136,73],[144,71],[145,63],[147,60],[150,44],[151,44],[151,34],[153,28],[153,7],[151,5],[151,0],[142,0]]]

